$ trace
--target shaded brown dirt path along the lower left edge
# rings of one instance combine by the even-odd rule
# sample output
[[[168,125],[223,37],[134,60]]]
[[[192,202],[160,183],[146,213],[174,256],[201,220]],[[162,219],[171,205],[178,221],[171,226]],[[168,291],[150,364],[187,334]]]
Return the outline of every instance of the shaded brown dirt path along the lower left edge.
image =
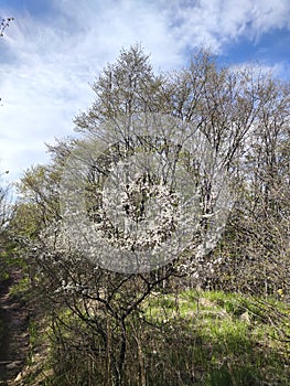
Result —
[[[21,279],[14,271],[0,283],[0,385],[13,385],[29,352],[29,312],[22,301],[10,294]]]

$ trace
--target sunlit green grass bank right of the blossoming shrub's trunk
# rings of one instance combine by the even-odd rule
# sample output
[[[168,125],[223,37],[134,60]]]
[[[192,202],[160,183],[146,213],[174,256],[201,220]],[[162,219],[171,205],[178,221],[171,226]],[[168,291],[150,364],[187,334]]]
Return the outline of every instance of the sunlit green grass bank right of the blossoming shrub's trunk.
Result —
[[[276,299],[269,307],[279,314],[289,312]],[[287,323],[273,323],[255,299],[222,291],[184,291],[159,294],[147,304],[147,315],[173,326],[176,337],[169,357],[171,366],[195,374],[196,385],[288,385],[290,342],[277,337],[277,326],[290,335]],[[174,328],[175,325],[175,328]],[[170,334],[167,330],[167,335]],[[182,332],[181,332],[182,331]],[[182,335],[187,342],[184,350]],[[167,350],[170,345],[167,345]],[[170,354],[167,354],[170,356]],[[179,357],[179,363],[176,362]],[[186,377],[179,383],[186,385]]]

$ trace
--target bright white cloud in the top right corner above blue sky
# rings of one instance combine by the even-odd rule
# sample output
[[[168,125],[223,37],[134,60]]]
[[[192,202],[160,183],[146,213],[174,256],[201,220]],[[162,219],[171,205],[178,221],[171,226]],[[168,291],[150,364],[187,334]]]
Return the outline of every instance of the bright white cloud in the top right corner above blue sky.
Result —
[[[171,2],[170,2],[171,3]],[[207,43],[217,53],[223,44],[240,35],[258,39],[272,28],[290,28],[288,0],[200,0],[173,1],[171,15],[178,21],[176,34],[192,45]]]

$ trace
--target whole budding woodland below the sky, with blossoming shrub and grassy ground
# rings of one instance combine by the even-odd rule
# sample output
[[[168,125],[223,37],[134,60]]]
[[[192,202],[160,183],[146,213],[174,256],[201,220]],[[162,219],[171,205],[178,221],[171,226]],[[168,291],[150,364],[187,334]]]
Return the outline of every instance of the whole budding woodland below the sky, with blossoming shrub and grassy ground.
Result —
[[[0,385],[288,385],[289,83],[136,44],[93,90],[2,184]]]

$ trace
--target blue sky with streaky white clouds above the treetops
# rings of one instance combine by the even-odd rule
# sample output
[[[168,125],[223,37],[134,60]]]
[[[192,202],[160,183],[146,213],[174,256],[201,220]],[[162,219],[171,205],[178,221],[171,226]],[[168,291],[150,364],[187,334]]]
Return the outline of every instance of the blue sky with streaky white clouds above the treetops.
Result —
[[[0,0],[15,20],[0,40],[0,171],[19,178],[72,135],[89,84],[139,42],[155,71],[186,65],[204,44],[221,63],[259,62],[290,78],[289,0]]]

